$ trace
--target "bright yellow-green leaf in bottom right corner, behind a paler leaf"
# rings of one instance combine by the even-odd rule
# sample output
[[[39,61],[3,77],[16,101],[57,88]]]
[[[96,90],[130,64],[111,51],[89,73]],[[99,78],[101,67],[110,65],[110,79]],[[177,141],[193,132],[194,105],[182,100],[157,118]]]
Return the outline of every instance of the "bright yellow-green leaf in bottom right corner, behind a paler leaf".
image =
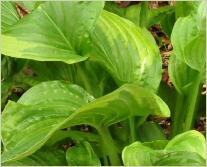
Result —
[[[167,151],[189,151],[206,158],[206,145],[204,136],[195,130],[190,130],[175,136],[166,145]]]

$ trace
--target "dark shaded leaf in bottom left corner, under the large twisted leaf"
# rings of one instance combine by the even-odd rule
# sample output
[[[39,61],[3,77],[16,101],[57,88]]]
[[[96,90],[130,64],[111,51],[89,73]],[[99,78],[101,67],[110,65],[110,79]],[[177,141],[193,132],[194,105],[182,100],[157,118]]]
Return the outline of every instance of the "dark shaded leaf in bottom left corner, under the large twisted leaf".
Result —
[[[57,148],[41,148],[31,156],[17,161],[6,162],[3,166],[66,166],[63,150]]]

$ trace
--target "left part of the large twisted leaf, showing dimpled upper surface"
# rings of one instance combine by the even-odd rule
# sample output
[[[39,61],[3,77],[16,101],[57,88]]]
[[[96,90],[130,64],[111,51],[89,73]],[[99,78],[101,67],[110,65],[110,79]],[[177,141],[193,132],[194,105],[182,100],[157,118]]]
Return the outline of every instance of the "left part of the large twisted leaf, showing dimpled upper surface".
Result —
[[[2,161],[32,154],[72,112],[91,99],[78,86],[52,81],[34,86],[18,103],[10,101],[2,115]]]

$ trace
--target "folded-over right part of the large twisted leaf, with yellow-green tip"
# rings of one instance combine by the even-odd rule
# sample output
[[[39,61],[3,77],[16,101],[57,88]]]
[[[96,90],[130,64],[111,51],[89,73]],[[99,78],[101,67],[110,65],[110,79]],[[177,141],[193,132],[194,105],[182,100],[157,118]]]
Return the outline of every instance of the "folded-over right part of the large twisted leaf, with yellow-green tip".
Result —
[[[107,127],[134,115],[148,114],[168,117],[170,111],[154,93],[136,84],[125,84],[112,93],[82,106],[66,120],[65,127],[77,124],[89,124],[96,128]]]

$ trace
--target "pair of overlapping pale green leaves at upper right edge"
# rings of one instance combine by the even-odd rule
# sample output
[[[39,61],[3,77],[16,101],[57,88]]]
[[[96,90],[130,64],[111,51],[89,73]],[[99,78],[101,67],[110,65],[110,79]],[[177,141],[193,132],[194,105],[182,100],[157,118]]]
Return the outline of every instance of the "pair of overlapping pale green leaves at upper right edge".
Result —
[[[169,61],[169,76],[180,93],[190,88],[195,76],[205,73],[206,30],[203,6],[205,2],[200,3],[196,13],[179,18],[173,27],[173,55]]]

